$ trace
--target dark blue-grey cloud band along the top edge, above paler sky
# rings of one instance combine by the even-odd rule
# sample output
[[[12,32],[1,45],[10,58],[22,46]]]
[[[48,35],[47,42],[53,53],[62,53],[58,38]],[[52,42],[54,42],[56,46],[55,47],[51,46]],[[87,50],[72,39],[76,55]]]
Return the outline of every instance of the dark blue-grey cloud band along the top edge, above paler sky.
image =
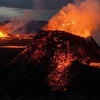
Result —
[[[59,9],[73,0],[0,0],[0,6],[33,8],[33,9]]]

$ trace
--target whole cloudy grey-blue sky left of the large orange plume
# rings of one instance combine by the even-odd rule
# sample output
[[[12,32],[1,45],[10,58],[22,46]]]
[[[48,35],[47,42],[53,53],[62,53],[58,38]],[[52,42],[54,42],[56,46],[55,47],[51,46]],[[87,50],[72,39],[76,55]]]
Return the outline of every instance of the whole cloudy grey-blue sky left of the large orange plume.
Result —
[[[49,20],[59,9],[72,1],[73,0],[0,0],[0,21],[20,16],[24,14],[23,12],[25,10],[32,11],[31,14],[34,20]]]

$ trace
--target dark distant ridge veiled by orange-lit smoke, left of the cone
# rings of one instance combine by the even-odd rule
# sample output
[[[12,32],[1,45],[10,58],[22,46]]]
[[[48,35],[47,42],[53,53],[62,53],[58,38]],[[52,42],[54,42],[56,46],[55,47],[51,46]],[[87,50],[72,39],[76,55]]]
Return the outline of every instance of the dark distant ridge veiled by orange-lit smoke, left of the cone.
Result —
[[[37,33],[47,21],[35,20],[7,20],[0,22],[1,30],[9,34],[30,34]]]

